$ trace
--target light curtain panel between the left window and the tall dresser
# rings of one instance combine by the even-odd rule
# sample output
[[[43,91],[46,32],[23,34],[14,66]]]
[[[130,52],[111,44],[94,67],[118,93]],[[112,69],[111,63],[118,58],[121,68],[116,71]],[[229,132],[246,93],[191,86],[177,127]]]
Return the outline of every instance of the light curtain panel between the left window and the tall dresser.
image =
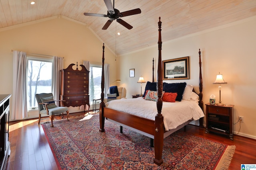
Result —
[[[52,70],[52,94],[55,100],[60,99],[60,70],[63,69],[63,57],[53,57],[53,70]],[[59,102],[56,103],[60,106]]]

